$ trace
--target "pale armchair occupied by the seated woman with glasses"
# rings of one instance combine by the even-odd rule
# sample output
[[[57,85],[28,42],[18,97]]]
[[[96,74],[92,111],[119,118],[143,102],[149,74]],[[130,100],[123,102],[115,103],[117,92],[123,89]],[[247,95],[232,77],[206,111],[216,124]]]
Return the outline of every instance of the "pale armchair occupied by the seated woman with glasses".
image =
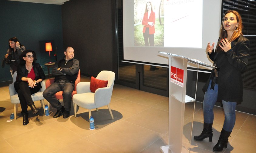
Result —
[[[20,103],[19,101],[19,97],[18,97],[18,93],[15,91],[14,89],[14,84],[16,81],[16,77],[17,77],[17,71],[13,73],[13,78],[12,78],[12,84],[9,84],[9,94],[10,94],[10,99],[11,99],[11,103],[14,104],[14,119],[16,120],[16,112],[18,111],[18,104]],[[44,103],[44,97],[43,97],[43,91],[45,91],[45,82],[42,81],[41,82],[41,86],[42,88],[39,90],[39,92],[32,94],[32,100],[33,101],[38,101],[40,100],[41,106],[44,109],[45,112],[45,103]]]

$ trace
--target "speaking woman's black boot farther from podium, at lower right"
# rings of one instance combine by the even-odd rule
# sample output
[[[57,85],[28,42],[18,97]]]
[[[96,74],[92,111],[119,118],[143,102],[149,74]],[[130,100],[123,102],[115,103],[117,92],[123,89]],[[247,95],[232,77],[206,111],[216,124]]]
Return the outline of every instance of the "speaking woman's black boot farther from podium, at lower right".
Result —
[[[228,137],[230,136],[231,132],[227,132],[222,128],[219,141],[212,149],[213,152],[221,152],[224,147],[227,148]]]

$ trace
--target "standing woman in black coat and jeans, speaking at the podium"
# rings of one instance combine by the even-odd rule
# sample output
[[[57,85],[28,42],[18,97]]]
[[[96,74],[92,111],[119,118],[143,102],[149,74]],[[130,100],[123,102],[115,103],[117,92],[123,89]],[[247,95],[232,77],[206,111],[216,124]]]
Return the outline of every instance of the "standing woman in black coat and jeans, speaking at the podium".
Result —
[[[217,100],[223,104],[225,120],[221,135],[213,152],[221,152],[227,148],[228,137],[235,125],[235,109],[243,100],[243,83],[241,72],[247,68],[250,41],[242,35],[242,18],[237,11],[228,10],[223,18],[220,37],[214,52],[214,43],[207,44],[209,58],[214,61],[214,69],[205,84],[203,110],[203,132],[194,136],[194,140],[203,141],[209,138],[212,141],[212,124],[214,119],[213,108]]]

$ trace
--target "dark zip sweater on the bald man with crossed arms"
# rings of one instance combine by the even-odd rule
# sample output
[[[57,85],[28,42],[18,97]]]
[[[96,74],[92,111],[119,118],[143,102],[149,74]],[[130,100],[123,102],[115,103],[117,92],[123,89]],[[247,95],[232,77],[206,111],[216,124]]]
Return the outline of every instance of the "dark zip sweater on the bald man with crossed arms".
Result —
[[[61,70],[57,70],[61,67]],[[75,82],[77,78],[77,74],[79,71],[79,61],[76,59],[71,59],[69,61],[65,61],[65,59],[59,60],[55,62],[52,68],[52,75],[55,76],[54,82],[60,80],[68,80],[71,82]]]

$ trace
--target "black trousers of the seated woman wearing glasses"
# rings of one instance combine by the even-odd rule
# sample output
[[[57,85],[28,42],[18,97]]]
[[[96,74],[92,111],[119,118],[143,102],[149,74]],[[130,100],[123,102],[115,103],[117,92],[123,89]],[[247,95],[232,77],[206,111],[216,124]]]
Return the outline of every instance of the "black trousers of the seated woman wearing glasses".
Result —
[[[18,97],[21,105],[21,113],[28,113],[28,106],[35,104],[31,98],[31,95],[39,92],[40,87],[35,86],[34,88],[29,87],[27,82],[19,82]]]

